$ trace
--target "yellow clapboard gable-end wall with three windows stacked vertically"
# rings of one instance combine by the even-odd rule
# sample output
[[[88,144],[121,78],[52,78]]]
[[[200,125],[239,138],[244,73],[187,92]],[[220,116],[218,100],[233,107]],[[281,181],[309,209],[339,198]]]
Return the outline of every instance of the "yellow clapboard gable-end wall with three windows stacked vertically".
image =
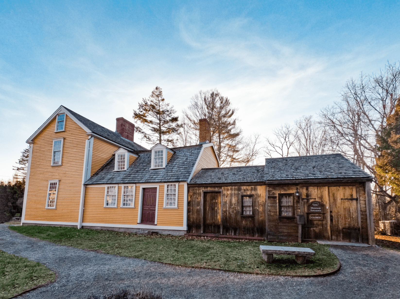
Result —
[[[66,115],[65,131],[52,120],[34,139],[25,220],[78,222],[86,132]],[[51,166],[53,138],[64,137],[62,165]],[[56,209],[45,209],[48,180],[59,179]]]

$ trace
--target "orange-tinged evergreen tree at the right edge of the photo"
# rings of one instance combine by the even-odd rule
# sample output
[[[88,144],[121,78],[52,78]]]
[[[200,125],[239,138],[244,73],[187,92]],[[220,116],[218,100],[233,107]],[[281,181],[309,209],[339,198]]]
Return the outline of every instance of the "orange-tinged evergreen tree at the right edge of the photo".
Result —
[[[376,143],[380,152],[375,165],[378,183],[391,186],[392,194],[400,195],[400,98],[397,99],[394,112],[388,116],[386,126],[377,136]]]

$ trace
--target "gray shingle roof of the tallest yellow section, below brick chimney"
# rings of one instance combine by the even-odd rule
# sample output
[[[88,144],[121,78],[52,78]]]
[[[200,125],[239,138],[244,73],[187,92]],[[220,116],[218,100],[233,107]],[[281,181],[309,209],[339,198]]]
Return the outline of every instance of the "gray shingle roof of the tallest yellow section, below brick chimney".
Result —
[[[64,107],[64,106],[63,106]],[[96,124],[95,122],[92,122],[91,120],[88,120],[87,118],[77,114],[76,112],[73,112],[72,110],[64,107],[68,112],[70,112],[77,120],[79,120],[86,128],[88,128],[90,131],[92,131],[94,134],[100,135],[104,138],[107,138],[108,140],[114,141],[121,146],[126,146],[127,148],[130,148],[134,151],[141,151],[141,150],[146,150],[143,146],[140,146],[136,142],[132,142],[128,139],[122,138],[121,135],[117,132],[112,132],[111,130],[108,130],[107,128],[104,128],[103,126],[100,126],[99,124]]]

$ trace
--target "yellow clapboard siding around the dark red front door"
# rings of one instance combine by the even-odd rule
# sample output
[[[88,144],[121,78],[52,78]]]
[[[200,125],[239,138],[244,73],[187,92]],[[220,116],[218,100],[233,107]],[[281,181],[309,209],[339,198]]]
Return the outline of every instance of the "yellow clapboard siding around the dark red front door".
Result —
[[[105,188],[106,185],[86,186],[82,222],[136,225],[140,212],[140,184],[136,184],[134,208],[121,207],[122,184],[118,185],[117,207],[104,207]],[[183,226],[184,185],[178,185],[178,209],[164,209],[164,184],[159,185],[158,190],[157,225]]]

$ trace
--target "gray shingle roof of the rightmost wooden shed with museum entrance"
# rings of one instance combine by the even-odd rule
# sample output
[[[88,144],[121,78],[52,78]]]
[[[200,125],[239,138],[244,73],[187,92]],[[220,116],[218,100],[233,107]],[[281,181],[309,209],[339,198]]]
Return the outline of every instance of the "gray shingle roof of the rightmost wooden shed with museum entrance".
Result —
[[[372,179],[340,153],[265,159],[265,180]]]

